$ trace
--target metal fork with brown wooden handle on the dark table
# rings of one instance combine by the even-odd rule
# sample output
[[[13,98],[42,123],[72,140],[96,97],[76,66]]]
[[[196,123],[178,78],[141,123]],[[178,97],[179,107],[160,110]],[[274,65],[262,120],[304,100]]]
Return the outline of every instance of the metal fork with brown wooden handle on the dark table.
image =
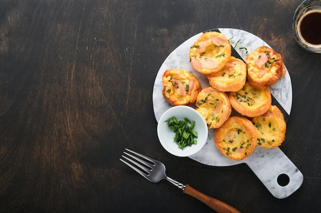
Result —
[[[199,201],[202,201],[218,213],[240,213],[240,211],[235,209],[234,207],[220,200],[200,193],[188,184],[184,185],[183,183],[177,182],[176,180],[167,177],[165,173],[165,165],[162,162],[129,149],[125,150],[127,151],[124,152],[126,156],[122,155],[124,159],[119,158],[119,160],[126,163],[130,168],[141,174],[149,181],[157,183],[160,180],[166,179],[176,185],[178,188],[182,189],[183,193],[188,194],[198,199]]]

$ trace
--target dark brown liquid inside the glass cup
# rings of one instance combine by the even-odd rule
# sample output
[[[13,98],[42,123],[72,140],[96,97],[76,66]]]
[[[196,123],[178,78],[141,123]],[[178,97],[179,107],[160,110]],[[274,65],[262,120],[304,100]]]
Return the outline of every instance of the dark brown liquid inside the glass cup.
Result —
[[[302,37],[312,44],[321,44],[321,11],[313,11],[302,18]]]

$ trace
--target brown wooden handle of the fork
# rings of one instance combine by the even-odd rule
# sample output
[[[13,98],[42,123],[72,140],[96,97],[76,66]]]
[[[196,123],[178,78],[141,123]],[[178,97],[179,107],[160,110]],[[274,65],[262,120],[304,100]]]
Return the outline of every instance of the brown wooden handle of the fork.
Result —
[[[218,213],[240,213],[236,208],[220,201],[210,196],[204,195],[203,193],[198,192],[190,185],[186,184],[183,193],[188,194],[199,201],[202,201],[210,208],[214,209]]]

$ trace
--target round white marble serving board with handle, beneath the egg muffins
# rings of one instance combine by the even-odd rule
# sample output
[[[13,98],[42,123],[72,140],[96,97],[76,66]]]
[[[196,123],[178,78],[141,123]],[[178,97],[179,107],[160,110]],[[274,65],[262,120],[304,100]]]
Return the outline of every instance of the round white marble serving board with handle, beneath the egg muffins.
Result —
[[[230,28],[219,28],[216,30],[219,30],[227,39],[230,40],[232,47],[234,47],[235,51],[243,58],[243,60],[245,60],[247,56],[244,47],[247,49],[248,53],[250,53],[259,46],[269,46],[262,39],[243,30]],[[210,86],[206,76],[196,72],[189,62],[190,47],[202,34],[203,33],[199,33],[179,45],[166,58],[162,66],[159,68],[153,88],[153,107],[157,122],[160,116],[162,116],[167,109],[172,107],[162,96],[162,75],[166,69],[184,68],[196,76],[202,88]],[[271,86],[270,91],[279,105],[283,107],[281,110],[284,112],[285,117],[288,117],[292,106],[292,84],[287,68],[285,77],[279,79],[273,86]],[[206,165],[217,167],[246,163],[268,188],[270,193],[279,199],[288,197],[295,192],[300,185],[302,185],[303,174],[279,148],[264,149],[257,146],[255,151],[249,157],[241,161],[236,161],[225,157],[216,149],[214,145],[214,132],[215,130],[213,129],[209,130],[205,146],[196,154],[189,156],[191,159]],[[286,139],[284,143],[287,143]],[[289,177],[289,183],[286,186],[281,186],[277,183],[278,176],[282,174]]]

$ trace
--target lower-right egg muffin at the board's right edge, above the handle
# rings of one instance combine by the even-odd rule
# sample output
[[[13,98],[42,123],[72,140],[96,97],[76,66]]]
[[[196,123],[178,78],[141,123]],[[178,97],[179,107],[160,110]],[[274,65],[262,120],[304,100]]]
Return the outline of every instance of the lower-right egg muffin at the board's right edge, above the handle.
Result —
[[[271,105],[267,112],[251,119],[257,132],[257,145],[263,148],[280,146],[285,139],[287,125],[282,112]]]

